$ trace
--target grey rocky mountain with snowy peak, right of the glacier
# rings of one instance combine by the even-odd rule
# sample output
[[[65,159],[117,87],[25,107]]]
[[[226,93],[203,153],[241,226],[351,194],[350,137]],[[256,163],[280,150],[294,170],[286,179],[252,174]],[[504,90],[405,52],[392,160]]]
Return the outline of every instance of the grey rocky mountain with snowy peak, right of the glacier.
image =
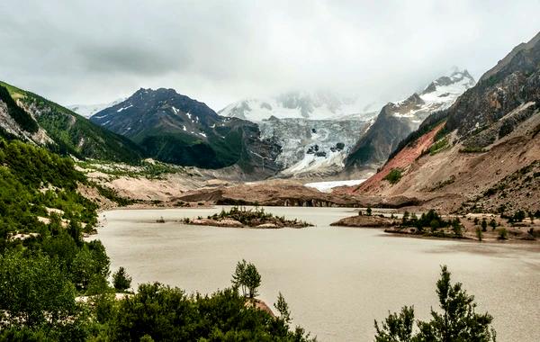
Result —
[[[380,166],[430,113],[448,108],[473,85],[473,76],[467,70],[456,69],[431,82],[420,94],[383,106],[374,124],[358,139],[347,157],[347,171],[373,170]]]

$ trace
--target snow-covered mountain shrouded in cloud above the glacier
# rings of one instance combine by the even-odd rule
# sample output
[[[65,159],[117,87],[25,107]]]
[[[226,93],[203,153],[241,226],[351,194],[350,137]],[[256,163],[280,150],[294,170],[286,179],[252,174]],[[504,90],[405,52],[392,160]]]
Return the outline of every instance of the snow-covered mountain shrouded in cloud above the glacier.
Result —
[[[329,92],[290,92],[265,99],[247,99],[231,103],[220,115],[260,122],[277,119],[370,119],[376,113],[376,103],[362,105],[356,99]]]

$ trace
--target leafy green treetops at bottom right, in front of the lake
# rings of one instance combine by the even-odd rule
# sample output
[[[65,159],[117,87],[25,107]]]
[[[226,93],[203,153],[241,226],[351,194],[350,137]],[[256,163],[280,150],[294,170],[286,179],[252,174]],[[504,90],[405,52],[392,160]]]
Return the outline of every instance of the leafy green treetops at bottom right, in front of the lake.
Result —
[[[403,307],[401,312],[391,314],[380,327],[375,320],[376,342],[455,342],[495,341],[491,328],[493,318],[489,313],[476,313],[474,297],[466,293],[463,284],[451,284],[446,266],[441,268],[437,281],[437,296],[442,312],[431,310],[431,320],[417,322],[418,332],[413,329],[414,311]]]

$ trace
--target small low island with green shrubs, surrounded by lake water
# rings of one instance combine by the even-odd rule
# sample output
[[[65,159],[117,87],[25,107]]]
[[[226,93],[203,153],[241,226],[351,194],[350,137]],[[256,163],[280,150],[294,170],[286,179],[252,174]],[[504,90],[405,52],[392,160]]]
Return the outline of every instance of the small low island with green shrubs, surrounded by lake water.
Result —
[[[202,217],[198,217],[197,219],[185,218],[182,220],[182,223],[198,226],[257,229],[305,228],[313,226],[311,223],[303,220],[287,220],[284,216],[275,216],[270,212],[266,212],[265,208],[260,207],[254,209],[232,207],[229,211],[221,210],[220,213],[210,215],[206,219]]]

